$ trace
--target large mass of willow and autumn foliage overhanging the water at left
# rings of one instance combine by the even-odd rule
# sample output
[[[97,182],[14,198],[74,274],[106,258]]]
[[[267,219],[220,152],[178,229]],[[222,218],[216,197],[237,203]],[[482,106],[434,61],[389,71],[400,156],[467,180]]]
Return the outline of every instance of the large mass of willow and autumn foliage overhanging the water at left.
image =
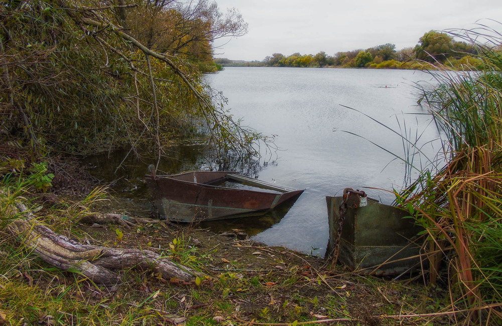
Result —
[[[224,111],[196,64],[212,41],[245,27],[203,0],[9,2],[0,8],[3,137],[72,153],[143,143],[160,155],[165,142],[207,132],[222,152],[257,154],[266,138]]]

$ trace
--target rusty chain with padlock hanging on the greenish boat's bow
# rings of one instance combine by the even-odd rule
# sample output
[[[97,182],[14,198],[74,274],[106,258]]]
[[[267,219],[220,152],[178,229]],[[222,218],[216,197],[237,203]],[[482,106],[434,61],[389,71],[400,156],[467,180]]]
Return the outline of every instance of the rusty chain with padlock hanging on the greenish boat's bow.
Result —
[[[326,267],[329,263],[331,263],[331,266],[336,265],[338,254],[340,252],[340,242],[347,208],[357,208],[359,206],[366,206],[366,204],[367,198],[364,191],[359,191],[359,189],[354,190],[352,188],[343,189],[343,199],[340,206],[338,206],[338,229],[336,230],[336,240],[332,244],[331,252],[329,253],[323,267]]]

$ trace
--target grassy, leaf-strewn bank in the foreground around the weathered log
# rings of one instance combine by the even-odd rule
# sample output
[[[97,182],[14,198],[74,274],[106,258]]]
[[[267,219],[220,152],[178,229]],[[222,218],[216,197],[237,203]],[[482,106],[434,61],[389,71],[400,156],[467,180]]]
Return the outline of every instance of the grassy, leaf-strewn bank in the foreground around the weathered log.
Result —
[[[197,225],[155,220],[86,224],[81,217],[94,211],[148,217],[150,210],[102,188],[90,191],[86,177],[72,187],[68,180],[65,187],[44,184],[43,189],[41,180],[62,185],[64,173],[52,168],[35,172],[26,163],[3,174],[0,324],[423,325],[453,320],[445,313],[447,292],[440,287],[358,275],[342,266],[324,270],[319,257],[238,239],[238,230],[215,234]],[[89,188],[79,189],[82,184]],[[25,218],[10,208],[16,202],[26,203],[37,221],[80,243],[152,250],[204,276],[187,283],[166,280],[148,268],[128,268],[119,271],[119,283],[99,285],[63,272],[8,232],[10,223]]]

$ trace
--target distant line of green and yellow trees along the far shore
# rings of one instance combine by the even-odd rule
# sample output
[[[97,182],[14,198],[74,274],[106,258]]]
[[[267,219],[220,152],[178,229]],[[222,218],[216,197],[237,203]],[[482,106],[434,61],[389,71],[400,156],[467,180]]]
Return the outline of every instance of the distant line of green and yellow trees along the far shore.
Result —
[[[267,67],[347,67],[347,68],[386,68],[386,69],[423,69],[428,64],[441,63],[452,68],[476,69],[480,64],[476,47],[458,42],[446,33],[429,31],[415,47],[396,50],[396,45],[387,43],[369,49],[337,52],[334,56],[324,51],[316,55],[294,53],[284,56],[274,53],[262,62],[237,63],[228,59],[218,59],[224,66],[267,66]],[[227,61],[227,62],[224,62]]]

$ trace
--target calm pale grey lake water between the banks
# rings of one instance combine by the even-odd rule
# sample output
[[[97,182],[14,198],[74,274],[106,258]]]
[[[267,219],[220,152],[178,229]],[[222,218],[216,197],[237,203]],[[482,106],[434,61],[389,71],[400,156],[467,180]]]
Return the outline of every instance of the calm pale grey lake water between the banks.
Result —
[[[243,125],[277,135],[275,144],[281,150],[259,178],[306,188],[289,210],[264,217],[270,227],[253,238],[269,245],[323,255],[328,240],[325,196],[341,195],[343,188],[352,187],[391,203],[392,194],[364,187],[392,190],[403,186],[405,164],[379,148],[405,157],[407,147],[401,137],[347,107],[413,141],[418,139],[430,159],[439,149],[431,117],[417,105],[416,84],[431,82],[431,76],[423,72],[238,67],[209,75],[207,81],[223,91],[231,114],[242,117]],[[427,164],[422,158],[422,164]],[[414,163],[421,164],[418,158]],[[244,220],[231,223],[256,227]]]

